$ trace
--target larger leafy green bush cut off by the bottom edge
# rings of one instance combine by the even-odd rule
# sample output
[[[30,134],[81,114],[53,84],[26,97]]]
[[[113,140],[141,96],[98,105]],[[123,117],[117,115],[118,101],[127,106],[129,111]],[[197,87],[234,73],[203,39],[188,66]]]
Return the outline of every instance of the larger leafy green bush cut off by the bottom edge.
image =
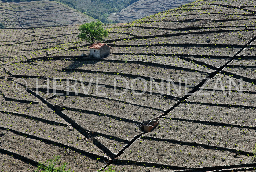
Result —
[[[53,156],[53,159],[46,160],[46,162],[39,162],[37,170],[35,172],[71,172],[71,169],[65,170],[68,163],[64,162],[60,166],[55,167],[60,164],[60,156]]]

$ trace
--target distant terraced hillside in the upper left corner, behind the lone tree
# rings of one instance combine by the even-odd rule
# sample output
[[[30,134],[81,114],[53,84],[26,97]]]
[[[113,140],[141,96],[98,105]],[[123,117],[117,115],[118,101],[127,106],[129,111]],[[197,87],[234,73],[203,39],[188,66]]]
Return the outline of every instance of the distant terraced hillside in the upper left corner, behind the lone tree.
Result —
[[[54,1],[2,2],[0,23],[5,27],[42,27],[90,22],[92,17]]]

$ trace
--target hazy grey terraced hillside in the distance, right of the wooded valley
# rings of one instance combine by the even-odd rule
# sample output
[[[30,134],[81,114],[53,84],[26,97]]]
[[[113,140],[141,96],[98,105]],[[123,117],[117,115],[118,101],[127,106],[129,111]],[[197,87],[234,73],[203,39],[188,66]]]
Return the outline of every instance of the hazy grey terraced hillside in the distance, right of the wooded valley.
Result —
[[[121,23],[131,22],[193,1],[194,0],[139,0],[118,13],[110,14],[108,19]]]

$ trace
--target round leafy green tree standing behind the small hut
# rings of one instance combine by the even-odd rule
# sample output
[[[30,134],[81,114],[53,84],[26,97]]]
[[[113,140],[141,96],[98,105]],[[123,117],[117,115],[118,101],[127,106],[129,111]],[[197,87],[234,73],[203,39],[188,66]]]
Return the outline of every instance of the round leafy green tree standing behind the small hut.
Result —
[[[78,37],[86,40],[90,44],[93,44],[95,40],[101,41],[103,37],[108,36],[108,32],[104,30],[101,21],[92,21],[91,23],[85,23],[79,26],[80,31]]]

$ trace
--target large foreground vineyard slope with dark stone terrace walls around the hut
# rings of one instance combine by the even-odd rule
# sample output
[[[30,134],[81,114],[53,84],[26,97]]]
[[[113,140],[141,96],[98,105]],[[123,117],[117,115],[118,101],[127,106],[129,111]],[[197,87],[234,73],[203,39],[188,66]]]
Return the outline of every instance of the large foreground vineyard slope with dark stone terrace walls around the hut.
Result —
[[[76,172],[255,171],[255,3],[105,26],[102,59],[81,57],[78,26],[0,30],[0,169],[60,155]]]

